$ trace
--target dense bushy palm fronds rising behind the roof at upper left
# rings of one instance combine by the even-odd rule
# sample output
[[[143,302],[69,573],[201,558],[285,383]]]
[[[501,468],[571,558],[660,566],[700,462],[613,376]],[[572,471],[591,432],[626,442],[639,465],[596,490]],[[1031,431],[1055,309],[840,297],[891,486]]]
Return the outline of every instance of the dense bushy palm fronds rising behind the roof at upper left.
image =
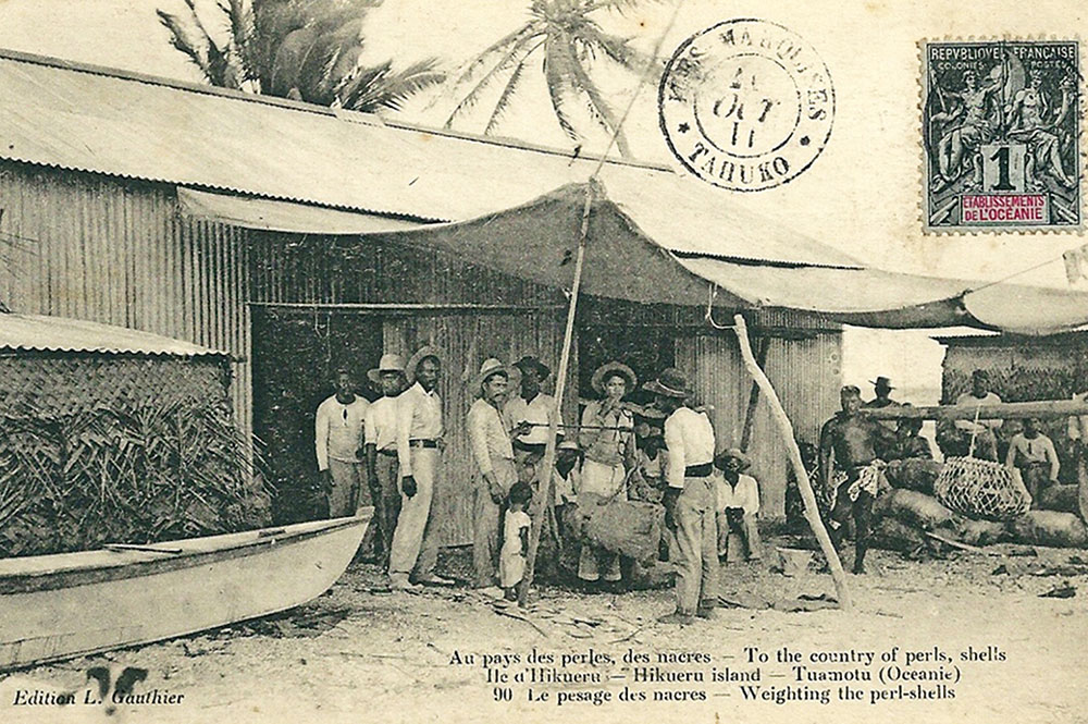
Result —
[[[374,112],[445,79],[434,60],[360,64],[362,22],[381,0],[217,0],[211,26],[195,2],[184,16],[156,12],[211,85]]]

